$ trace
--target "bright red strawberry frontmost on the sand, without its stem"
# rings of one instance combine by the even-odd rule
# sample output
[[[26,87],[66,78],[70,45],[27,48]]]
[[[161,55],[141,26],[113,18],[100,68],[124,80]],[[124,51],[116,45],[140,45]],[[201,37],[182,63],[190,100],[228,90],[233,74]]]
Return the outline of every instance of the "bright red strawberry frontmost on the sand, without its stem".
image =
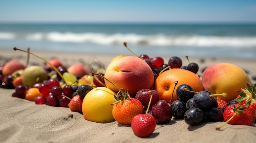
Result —
[[[132,118],[132,131],[141,138],[150,136],[157,125],[155,117],[150,114],[137,114]]]

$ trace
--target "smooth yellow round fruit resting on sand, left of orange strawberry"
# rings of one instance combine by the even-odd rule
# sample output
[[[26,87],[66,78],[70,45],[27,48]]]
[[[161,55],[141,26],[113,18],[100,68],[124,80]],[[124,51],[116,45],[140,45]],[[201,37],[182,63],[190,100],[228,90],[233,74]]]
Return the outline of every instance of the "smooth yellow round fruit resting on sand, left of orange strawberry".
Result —
[[[115,121],[112,108],[115,97],[112,90],[106,87],[97,87],[88,92],[82,104],[84,119],[97,123],[110,123]]]

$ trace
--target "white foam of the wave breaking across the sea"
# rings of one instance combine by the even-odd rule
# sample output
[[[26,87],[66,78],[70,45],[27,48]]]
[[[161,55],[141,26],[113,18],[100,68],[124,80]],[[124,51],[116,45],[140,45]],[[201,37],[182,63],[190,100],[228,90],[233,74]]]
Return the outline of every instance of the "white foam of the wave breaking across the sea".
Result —
[[[13,33],[0,33],[0,40],[13,39]],[[19,37],[22,38],[22,37]],[[24,37],[23,37],[24,38]],[[25,35],[27,40],[49,40],[52,42],[74,42],[116,45],[127,42],[134,45],[150,46],[192,46],[192,47],[244,47],[255,48],[254,37],[228,37],[204,35],[137,35],[135,33],[30,33]]]

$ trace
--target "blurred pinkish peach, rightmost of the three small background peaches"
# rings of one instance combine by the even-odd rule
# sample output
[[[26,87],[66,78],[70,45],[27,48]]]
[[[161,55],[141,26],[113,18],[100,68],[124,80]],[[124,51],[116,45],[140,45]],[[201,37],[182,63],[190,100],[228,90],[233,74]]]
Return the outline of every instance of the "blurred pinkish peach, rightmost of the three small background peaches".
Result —
[[[83,77],[84,75],[88,75],[90,70],[81,63],[72,64],[67,71],[73,75]]]

